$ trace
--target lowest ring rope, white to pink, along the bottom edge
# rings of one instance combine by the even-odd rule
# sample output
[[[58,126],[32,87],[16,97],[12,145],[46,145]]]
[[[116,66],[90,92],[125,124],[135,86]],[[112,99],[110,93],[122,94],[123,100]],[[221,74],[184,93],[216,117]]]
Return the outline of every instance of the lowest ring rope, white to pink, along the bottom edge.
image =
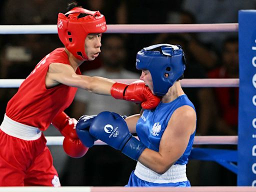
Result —
[[[121,187],[121,186],[5,186],[0,192],[255,192],[251,186]]]

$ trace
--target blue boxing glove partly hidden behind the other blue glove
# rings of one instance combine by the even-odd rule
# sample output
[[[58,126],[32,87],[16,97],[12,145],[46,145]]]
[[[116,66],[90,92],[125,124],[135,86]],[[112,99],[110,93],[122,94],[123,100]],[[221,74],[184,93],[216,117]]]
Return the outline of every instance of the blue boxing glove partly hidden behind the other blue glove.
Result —
[[[75,126],[78,138],[81,140],[82,144],[87,147],[93,146],[94,141],[97,140],[89,133],[89,127],[95,116],[97,115],[82,115]]]

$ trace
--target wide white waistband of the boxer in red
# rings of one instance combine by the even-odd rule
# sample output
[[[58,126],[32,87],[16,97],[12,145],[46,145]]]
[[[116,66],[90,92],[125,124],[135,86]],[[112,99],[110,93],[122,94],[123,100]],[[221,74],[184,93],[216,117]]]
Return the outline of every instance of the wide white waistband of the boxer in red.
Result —
[[[16,122],[4,114],[0,129],[10,136],[23,140],[36,140],[42,132],[39,128]]]

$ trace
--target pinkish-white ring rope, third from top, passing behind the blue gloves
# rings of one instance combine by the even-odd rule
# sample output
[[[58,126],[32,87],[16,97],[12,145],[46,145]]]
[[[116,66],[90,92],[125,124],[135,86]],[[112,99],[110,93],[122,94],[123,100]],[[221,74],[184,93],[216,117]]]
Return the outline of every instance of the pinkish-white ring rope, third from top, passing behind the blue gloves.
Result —
[[[47,145],[62,145],[63,136],[46,136]],[[136,137],[137,138],[137,137]],[[238,136],[195,136],[193,144],[237,144]],[[96,140],[94,145],[106,145]]]

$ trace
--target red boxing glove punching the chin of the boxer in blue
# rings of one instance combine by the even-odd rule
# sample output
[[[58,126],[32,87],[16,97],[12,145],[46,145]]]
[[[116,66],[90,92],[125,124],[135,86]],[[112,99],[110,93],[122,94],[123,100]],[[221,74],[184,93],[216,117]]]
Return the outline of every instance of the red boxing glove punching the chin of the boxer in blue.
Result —
[[[115,82],[110,92],[116,99],[141,102],[141,107],[144,109],[153,109],[160,102],[160,98],[154,95],[143,81],[135,81],[131,84]]]

